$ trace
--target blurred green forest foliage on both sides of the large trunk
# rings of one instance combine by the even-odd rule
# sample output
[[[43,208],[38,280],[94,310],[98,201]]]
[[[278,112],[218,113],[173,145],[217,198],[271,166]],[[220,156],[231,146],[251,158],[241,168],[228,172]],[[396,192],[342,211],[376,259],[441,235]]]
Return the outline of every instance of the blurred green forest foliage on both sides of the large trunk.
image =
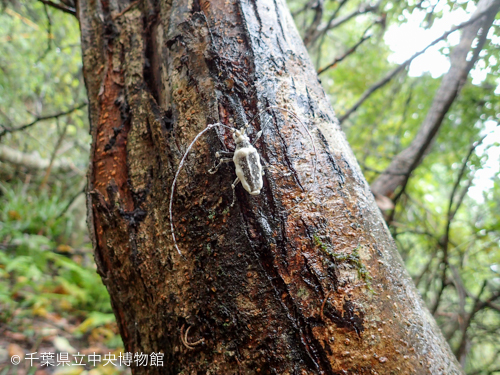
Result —
[[[390,30],[416,17],[424,30],[447,13],[472,12],[471,3],[290,0],[289,7],[318,70],[345,55],[320,74],[342,116],[396,67],[385,39]],[[349,14],[355,15],[335,24]],[[330,20],[333,27],[325,27]],[[497,20],[490,29],[475,78],[447,113],[431,152],[385,212],[410,274],[468,374],[500,373],[499,26]],[[452,47],[443,42],[440,53],[448,56]],[[0,348],[9,348],[0,351],[0,371],[16,345],[58,349],[57,338],[65,338],[78,350],[120,349],[86,235],[90,138],[81,68],[75,17],[37,1],[3,4],[0,148],[46,164],[27,168],[0,157]],[[441,80],[408,73],[403,69],[342,123],[368,182],[409,145]]]

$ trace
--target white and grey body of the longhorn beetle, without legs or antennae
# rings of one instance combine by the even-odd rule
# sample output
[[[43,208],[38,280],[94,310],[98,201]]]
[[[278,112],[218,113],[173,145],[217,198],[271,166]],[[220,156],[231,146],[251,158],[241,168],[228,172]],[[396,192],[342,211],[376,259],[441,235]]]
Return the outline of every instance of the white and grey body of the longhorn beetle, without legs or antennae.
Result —
[[[236,143],[233,155],[236,176],[246,191],[251,195],[258,195],[262,189],[263,174],[260,156],[244,129],[235,130],[233,138]]]

